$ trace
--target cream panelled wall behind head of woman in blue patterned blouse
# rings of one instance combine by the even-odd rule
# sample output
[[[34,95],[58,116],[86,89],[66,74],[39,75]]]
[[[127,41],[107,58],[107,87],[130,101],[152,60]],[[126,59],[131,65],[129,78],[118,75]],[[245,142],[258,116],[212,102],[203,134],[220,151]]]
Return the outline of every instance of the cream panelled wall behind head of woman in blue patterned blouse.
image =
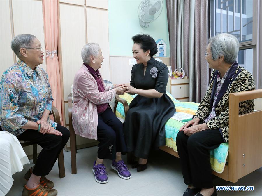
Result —
[[[17,62],[11,49],[11,40],[18,34],[35,35],[45,48],[42,1],[0,1],[1,4],[1,64],[0,74]],[[21,17],[21,10],[28,10]],[[29,11],[30,10],[30,11]],[[32,18],[34,20],[32,20]],[[40,65],[45,69],[44,63]]]

